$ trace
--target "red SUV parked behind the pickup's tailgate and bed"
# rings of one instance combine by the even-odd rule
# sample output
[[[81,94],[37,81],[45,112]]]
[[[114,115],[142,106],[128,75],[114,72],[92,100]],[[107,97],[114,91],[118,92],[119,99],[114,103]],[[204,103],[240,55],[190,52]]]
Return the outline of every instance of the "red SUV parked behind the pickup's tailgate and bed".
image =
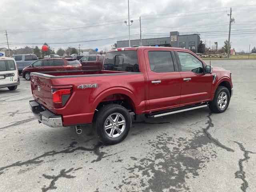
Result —
[[[40,59],[22,70],[22,77],[30,80],[31,72],[82,70],[80,62],[74,58]]]

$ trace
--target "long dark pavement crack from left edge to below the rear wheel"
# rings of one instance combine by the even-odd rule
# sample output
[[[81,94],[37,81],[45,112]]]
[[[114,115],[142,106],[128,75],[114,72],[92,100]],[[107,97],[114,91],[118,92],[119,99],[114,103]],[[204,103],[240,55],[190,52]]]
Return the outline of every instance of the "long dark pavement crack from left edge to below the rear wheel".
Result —
[[[44,154],[40,155],[40,156],[37,156],[33,159],[30,159],[30,160],[27,160],[27,161],[24,161],[24,162],[21,162],[21,161],[17,161],[13,164],[10,164],[8,166],[4,166],[4,167],[0,167],[0,175],[3,174],[4,172],[1,172],[7,168],[10,168],[10,167],[20,167],[20,166],[23,166],[23,165],[30,165],[30,164],[40,164],[42,163],[44,160],[39,160],[40,158],[44,158],[46,156],[54,156],[54,155],[57,155],[57,154],[61,154],[61,153],[64,153],[64,154],[69,154],[69,153],[73,153],[73,152],[76,152],[78,150],[81,150],[81,151],[91,151],[91,152],[94,152],[94,154],[97,155],[97,158],[96,160],[93,160],[93,162],[98,162],[100,160],[102,160],[102,157],[104,156],[104,154],[106,154],[105,152],[100,152],[99,151],[99,148],[101,146],[103,146],[102,143],[98,143],[96,144],[93,148],[85,148],[85,147],[75,147],[74,145],[77,144],[77,142],[72,142],[70,144],[70,146],[68,146],[68,148],[66,148],[65,150],[61,150],[61,151],[48,151],[48,152],[45,152]]]

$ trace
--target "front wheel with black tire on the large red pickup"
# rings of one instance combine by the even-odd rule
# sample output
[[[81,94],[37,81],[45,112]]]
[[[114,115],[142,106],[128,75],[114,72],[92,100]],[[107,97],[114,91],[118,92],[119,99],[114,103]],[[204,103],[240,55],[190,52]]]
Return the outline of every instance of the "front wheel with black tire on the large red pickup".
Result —
[[[228,108],[230,102],[230,92],[224,86],[218,86],[214,98],[209,102],[209,108],[214,113],[223,113]]]

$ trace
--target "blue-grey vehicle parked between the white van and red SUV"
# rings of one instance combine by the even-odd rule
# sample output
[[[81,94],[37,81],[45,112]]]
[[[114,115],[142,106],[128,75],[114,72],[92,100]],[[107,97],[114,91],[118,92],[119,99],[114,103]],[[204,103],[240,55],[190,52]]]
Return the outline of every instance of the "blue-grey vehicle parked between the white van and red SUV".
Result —
[[[32,64],[34,61],[38,60],[35,54],[21,54],[21,55],[13,55],[11,58],[14,58],[16,64],[18,66],[18,72],[21,73],[22,70]]]

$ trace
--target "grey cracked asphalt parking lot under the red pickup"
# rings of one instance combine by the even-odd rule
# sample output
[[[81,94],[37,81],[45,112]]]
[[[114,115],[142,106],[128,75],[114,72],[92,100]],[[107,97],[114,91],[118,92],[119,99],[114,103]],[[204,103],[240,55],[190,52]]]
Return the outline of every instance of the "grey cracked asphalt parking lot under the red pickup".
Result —
[[[209,63],[209,61],[207,61]],[[30,82],[0,89],[0,191],[256,191],[256,60],[212,61],[232,71],[228,110],[143,116],[113,146],[90,126],[49,128],[30,112]]]

